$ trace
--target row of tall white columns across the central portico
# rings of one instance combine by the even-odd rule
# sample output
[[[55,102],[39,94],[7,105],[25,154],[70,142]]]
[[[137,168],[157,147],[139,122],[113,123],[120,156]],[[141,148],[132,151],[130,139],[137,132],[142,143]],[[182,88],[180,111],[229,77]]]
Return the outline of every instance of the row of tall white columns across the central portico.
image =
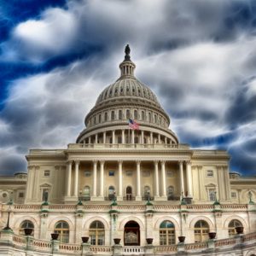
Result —
[[[100,161],[100,194],[97,195],[97,160],[93,160],[93,188],[92,196],[98,197],[103,200],[104,198],[104,164],[105,161]],[[161,166],[161,195],[160,195],[160,180],[159,180],[159,162]],[[75,160],[74,167],[74,179],[73,179],[73,196],[78,196],[79,191],[79,160]],[[123,198],[123,161],[119,160],[119,184],[118,184],[118,199]],[[137,160],[137,194],[136,199],[141,200],[141,161]],[[190,161],[186,161],[186,177],[187,177],[187,191],[184,191],[184,177],[183,177],[183,161],[179,161],[179,172],[180,172],[180,188],[181,193],[184,196],[192,198],[192,172]],[[67,196],[72,196],[72,161],[67,163]],[[166,161],[154,160],[154,200],[159,198],[166,199]]]

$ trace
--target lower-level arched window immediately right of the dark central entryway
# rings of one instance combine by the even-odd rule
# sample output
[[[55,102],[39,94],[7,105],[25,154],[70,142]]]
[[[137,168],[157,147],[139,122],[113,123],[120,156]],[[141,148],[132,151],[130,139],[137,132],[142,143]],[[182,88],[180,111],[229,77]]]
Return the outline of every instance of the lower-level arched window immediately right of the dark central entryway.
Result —
[[[169,221],[165,220],[160,224],[160,245],[175,244],[175,226]]]

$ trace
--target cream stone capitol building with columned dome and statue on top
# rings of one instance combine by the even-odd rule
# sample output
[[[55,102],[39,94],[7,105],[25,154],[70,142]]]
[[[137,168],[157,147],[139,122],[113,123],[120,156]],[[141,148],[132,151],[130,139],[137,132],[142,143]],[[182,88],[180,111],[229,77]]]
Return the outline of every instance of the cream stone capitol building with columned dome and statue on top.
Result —
[[[256,255],[256,177],[180,143],[130,54],[76,143],[0,177],[0,255]]]

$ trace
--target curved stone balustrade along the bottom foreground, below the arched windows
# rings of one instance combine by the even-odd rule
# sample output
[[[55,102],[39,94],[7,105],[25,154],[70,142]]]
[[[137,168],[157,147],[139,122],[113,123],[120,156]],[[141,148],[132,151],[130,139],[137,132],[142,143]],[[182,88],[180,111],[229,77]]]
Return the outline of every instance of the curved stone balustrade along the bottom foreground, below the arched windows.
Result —
[[[249,233],[247,235],[236,235],[232,238],[221,239],[221,240],[208,240],[198,243],[183,243],[179,242],[176,245],[170,246],[153,246],[148,245],[145,247],[131,246],[123,247],[121,245],[114,246],[94,246],[89,243],[82,244],[71,244],[62,243],[59,241],[44,241],[34,239],[32,236],[20,236],[15,235],[11,230],[0,231],[0,254],[3,252],[3,245],[5,251],[1,255],[9,255],[12,252],[20,251],[30,251],[30,255],[49,255],[49,253],[56,253],[58,255],[113,255],[117,251],[121,255],[144,255],[148,254],[151,250],[151,254],[155,255],[161,254],[175,254],[175,253],[197,253],[196,255],[201,255],[205,250],[221,250],[226,251],[227,249],[232,249],[238,245],[242,245],[242,249],[245,250],[247,247],[251,247],[252,244],[256,244],[256,232]],[[7,248],[8,247],[8,248]],[[1,249],[2,248],[2,249]],[[2,251],[1,251],[2,250]],[[150,253],[149,253],[150,254]]]

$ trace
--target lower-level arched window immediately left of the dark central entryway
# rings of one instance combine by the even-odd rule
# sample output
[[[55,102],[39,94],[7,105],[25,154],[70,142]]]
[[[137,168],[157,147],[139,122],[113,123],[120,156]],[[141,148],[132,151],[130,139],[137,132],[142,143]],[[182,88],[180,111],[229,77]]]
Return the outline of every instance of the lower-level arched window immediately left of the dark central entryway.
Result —
[[[91,245],[104,245],[105,230],[102,222],[96,220],[90,224],[89,236]]]

